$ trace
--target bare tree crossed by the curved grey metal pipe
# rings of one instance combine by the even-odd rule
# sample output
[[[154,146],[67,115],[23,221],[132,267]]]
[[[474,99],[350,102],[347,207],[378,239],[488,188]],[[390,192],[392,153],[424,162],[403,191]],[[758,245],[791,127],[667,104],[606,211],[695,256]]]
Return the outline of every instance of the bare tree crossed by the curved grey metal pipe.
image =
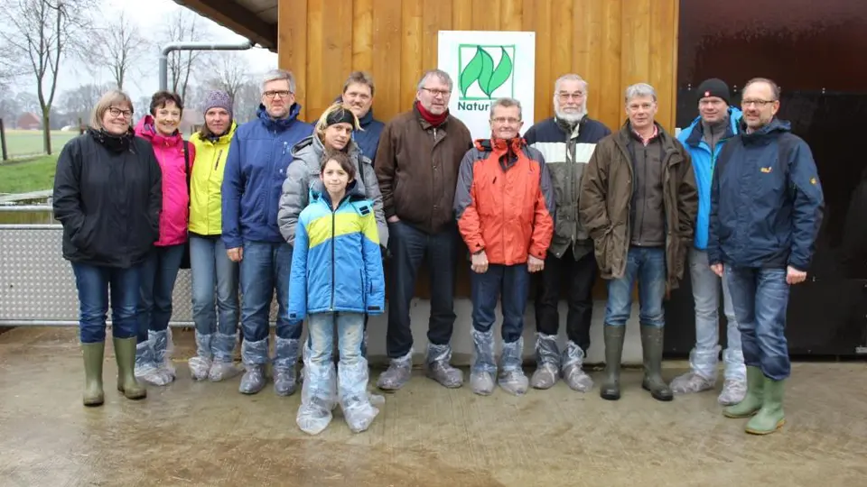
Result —
[[[201,41],[205,28],[199,15],[186,9],[172,14],[163,32],[167,41]],[[168,59],[169,88],[184,100],[194,69],[199,66],[201,51],[172,51]]]

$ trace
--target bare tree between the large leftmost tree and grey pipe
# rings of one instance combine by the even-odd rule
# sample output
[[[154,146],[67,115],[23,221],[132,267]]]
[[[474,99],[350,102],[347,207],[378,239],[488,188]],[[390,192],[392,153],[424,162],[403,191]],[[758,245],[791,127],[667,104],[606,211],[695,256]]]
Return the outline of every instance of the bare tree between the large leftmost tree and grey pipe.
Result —
[[[91,53],[107,65],[117,89],[124,89],[126,76],[138,66],[149,42],[123,11],[94,34]]]

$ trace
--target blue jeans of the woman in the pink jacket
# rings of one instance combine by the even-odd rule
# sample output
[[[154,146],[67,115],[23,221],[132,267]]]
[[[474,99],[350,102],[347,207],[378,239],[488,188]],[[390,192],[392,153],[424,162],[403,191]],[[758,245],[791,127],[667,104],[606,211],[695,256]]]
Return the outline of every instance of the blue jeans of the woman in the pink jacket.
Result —
[[[147,330],[165,331],[172,319],[172,291],[181,269],[184,245],[156,247],[141,264],[141,296],[138,302],[138,343],[147,341]]]

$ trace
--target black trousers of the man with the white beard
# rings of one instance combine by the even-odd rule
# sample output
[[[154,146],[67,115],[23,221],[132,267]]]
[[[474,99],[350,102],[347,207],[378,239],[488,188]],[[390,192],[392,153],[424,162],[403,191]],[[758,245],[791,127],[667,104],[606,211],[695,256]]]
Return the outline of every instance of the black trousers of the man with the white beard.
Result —
[[[536,289],[536,331],[544,335],[557,335],[560,329],[560,290],[566,288],[566,336],[581,347],[584,354],[590,348],[590,325],[593,312],[593,284],[599,268],[596,257],[587,253],[575,261],[572,247],[562,258],[548,253],[545,270]]]

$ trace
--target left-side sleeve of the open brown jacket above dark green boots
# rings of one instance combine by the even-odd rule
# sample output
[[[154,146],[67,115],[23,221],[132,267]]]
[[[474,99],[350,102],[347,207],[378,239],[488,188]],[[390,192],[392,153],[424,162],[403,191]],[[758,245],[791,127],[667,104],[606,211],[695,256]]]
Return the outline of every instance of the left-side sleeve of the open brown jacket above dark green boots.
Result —
[[[581,198],[578,198],[578,216],[593,240],[599,240],[611,226],[606,198],[608,197],[608,168],[611,164],[610,143],[603,139],[584,168]]]

